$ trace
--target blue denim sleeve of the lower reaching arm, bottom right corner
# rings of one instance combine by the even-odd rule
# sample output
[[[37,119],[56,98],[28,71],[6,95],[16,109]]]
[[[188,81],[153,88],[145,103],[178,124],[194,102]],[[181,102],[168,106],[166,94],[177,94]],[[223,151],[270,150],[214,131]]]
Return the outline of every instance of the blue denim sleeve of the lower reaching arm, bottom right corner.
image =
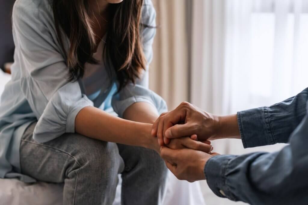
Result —
[[[212,191],[249,204],[307,204],[308,117],[280,152],[214,156],[205,165]]]

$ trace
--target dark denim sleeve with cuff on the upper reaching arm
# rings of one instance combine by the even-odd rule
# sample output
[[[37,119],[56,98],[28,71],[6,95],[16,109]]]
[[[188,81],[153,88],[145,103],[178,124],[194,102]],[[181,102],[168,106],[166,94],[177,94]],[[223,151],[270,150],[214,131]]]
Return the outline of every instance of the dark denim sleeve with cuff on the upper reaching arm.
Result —
[[[308,88],[272,106],[237,112],[244,147],[287,143],[305,116],[307,100]]]

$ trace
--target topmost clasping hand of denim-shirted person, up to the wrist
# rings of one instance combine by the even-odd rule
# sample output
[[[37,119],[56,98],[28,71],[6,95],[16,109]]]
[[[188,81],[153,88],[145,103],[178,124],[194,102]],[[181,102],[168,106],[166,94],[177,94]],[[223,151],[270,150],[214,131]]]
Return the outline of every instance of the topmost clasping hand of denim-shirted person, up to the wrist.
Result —
[[[153,124],[152,136],[159,144],[169,144],[170,139],[196,134],[199,140],[213,140],[219,117],[188,103],[181,103],[171,112],[163,113]]]

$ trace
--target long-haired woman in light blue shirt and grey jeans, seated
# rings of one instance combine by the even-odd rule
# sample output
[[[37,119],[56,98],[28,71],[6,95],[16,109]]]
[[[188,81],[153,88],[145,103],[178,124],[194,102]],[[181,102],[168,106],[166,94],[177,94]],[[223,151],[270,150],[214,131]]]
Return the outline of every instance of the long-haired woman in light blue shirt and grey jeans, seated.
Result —
[[[150,0],[15,2],[1,178],[64,183],[63,204],[111,204],[122,173],[123,204],[159,203],[166,168],[151,129],[166,105],[147,88],[155,15]]]

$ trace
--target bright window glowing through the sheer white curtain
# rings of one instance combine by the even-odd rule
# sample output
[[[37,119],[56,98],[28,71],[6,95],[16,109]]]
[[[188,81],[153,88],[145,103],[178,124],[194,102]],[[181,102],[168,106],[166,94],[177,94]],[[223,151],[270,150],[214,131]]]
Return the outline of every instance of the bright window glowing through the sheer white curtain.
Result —
[[[253,1],[250,107],[274,104],[308,87],[308,1],[276,2]]]

